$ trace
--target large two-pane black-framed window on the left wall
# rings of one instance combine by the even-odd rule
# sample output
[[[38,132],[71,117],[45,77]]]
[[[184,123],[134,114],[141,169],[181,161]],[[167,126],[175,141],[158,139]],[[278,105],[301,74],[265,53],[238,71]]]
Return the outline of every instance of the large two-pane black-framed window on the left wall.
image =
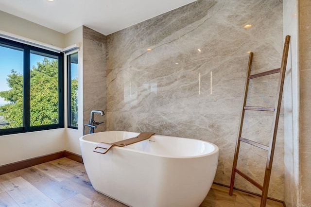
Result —
[[[0,38],[0,135],[64,127],[63,54]]]

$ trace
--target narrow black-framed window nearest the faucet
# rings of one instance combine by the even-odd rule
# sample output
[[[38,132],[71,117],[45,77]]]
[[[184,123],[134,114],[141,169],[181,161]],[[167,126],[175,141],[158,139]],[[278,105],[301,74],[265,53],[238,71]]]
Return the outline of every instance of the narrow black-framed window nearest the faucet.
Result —
[[[67,56],[68,63],[68,127],[78,128],[78,52]]]

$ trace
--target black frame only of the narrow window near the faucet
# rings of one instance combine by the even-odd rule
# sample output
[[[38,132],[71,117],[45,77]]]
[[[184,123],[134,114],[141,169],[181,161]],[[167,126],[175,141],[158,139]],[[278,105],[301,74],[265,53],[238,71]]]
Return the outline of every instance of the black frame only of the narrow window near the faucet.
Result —
[[[72,123],[72,120],[71,120],[71,55],[72,54],[75,54],[75,53],[78,53],[77,52],[73,52],[69,55],[67,55],[67,108],[68,108],[68,113],[67,113],[67,116],[68,116],[68,121],[67,121],[67,127],[68,128],[71,128],[71,129],[78,129],[78,126],[72,126],[71,123]],[[78,62],[79,64],[79,62]]]

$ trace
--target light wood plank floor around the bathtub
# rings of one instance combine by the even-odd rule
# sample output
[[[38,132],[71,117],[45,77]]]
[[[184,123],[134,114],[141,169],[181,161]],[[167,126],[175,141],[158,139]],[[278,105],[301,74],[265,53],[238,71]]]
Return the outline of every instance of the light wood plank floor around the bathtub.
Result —
[[[200,207],[259,207],[260,197],[213,185]],[[93,189],[84,165],[61,158],[0,175],[0,207],[126,207]],[[267,207],[283,207],[268,200]]]

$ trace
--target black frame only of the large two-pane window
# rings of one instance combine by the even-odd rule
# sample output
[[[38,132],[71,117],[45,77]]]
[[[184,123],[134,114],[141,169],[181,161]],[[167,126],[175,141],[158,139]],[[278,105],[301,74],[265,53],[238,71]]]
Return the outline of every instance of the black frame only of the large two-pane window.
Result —
[[[4,39],[0,37],[0,43],[24,51],[23,56],[23,127],[0,129],[1,135],[10,135],[26,132],[34,132],[49,129],[64,128],[64,54],[63,52],[52,52],[28,44]],[[58,123],[40,126],[30,126],[30,54],[31,52],[41,52],[58,57]]]

